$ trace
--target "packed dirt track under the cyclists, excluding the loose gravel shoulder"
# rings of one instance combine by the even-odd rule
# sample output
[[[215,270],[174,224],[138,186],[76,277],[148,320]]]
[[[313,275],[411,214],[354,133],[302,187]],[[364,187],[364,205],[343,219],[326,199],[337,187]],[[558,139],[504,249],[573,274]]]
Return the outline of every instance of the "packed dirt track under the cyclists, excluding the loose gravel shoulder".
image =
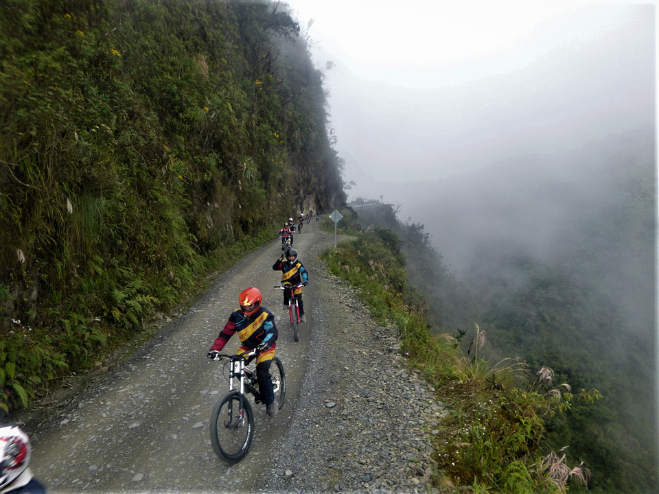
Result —
[[[334,241],[317,225],[306,224],[294,240],[305,266],[310,247],[317,252],[319,242],[329,247]],[[304,292],[308,322],[294,342],[281,290],[273,289],[281,279],[272,269],[280,254],[275,241],[248,255],[121,365],[32,427],[32,469],[49,493],[250,491],[249,479],[262,475],[273,444],[287,432],[314,326],[311,272]],[[209,441],[209,416],[227,383],[220,364],[206,353],[238,307],[238,294],[250,285],[262,291],[264,306],[275,313],[277,356],[284,362],[288,389],[286,404],[273,419],[263,405],[256,407],[250,453],[229,471]],[[235,335],[227,350],[238,346]]]

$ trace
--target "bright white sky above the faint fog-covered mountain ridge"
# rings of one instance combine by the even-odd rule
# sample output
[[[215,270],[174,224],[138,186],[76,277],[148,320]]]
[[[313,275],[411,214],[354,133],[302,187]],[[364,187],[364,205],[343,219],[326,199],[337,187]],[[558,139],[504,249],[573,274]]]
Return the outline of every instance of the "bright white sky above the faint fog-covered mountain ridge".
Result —
[[[319,49],[356,78],[430,89],[507,73],[616,25],[620,6],[575,2],[292,0]],[[321,59],[322,56],[319,56]]]

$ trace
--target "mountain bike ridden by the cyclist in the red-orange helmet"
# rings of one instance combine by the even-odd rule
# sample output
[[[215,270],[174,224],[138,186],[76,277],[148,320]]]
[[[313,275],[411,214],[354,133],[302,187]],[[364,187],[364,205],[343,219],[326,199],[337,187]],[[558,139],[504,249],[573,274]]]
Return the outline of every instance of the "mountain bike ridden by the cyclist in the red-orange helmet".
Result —
[[[247,367],[256,353],[256,350],[242,355],[220,353],[216,359],[227,359],[222,374],[229,381],[229,392],[216,403],[211,413],[211,445],[218,458],[229,464],[238,463],[244,458],[254,438],[254,412],[246,393],[254,396],[254,403],[261,403],[256,371]],[[247,362],[245,359],[248,359]],[[270,375],[273,377],[277,410],[281,410],[286,398],[286,374],[279,357],[273,357]],[[236,388],[233,379],[238,379]]]

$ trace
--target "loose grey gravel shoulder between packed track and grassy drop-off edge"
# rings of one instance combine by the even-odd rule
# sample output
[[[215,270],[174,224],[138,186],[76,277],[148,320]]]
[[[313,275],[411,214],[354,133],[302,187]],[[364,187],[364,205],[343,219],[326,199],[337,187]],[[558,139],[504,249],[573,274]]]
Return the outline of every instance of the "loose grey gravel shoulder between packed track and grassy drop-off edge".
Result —
[[[290,433],[255,491],[438,493],[431,437],[450,411],[406,367],[397,329],[378,325],[321,261],[310,268],[319,289],[309,371]]]

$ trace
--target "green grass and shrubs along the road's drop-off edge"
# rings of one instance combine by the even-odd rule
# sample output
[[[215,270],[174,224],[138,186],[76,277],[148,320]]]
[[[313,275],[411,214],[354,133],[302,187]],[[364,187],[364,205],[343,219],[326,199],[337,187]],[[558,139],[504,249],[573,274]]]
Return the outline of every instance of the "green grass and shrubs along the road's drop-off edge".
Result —
[[[522,362],[487,358],[485,332],[463,351],[464,332],[452,336],[430,331],[428,306],[408,284],[401,242],[392,231],[362,231],[325,253],[329,270],[358,287],[371,315],[400,329],[402,353],[433,383],[455,410],[443,421],[436,454],[437,488],[456,492],[469,486],[477,492],[552,493],[567,485],[585,484],[590,472],[583,464],[568,467],[566,456],[542,454],[545,417],[568,410],[573,403],[592,403],[595,390],[570,392],[553,386],[553,372],[541,368],[527,379]]]

